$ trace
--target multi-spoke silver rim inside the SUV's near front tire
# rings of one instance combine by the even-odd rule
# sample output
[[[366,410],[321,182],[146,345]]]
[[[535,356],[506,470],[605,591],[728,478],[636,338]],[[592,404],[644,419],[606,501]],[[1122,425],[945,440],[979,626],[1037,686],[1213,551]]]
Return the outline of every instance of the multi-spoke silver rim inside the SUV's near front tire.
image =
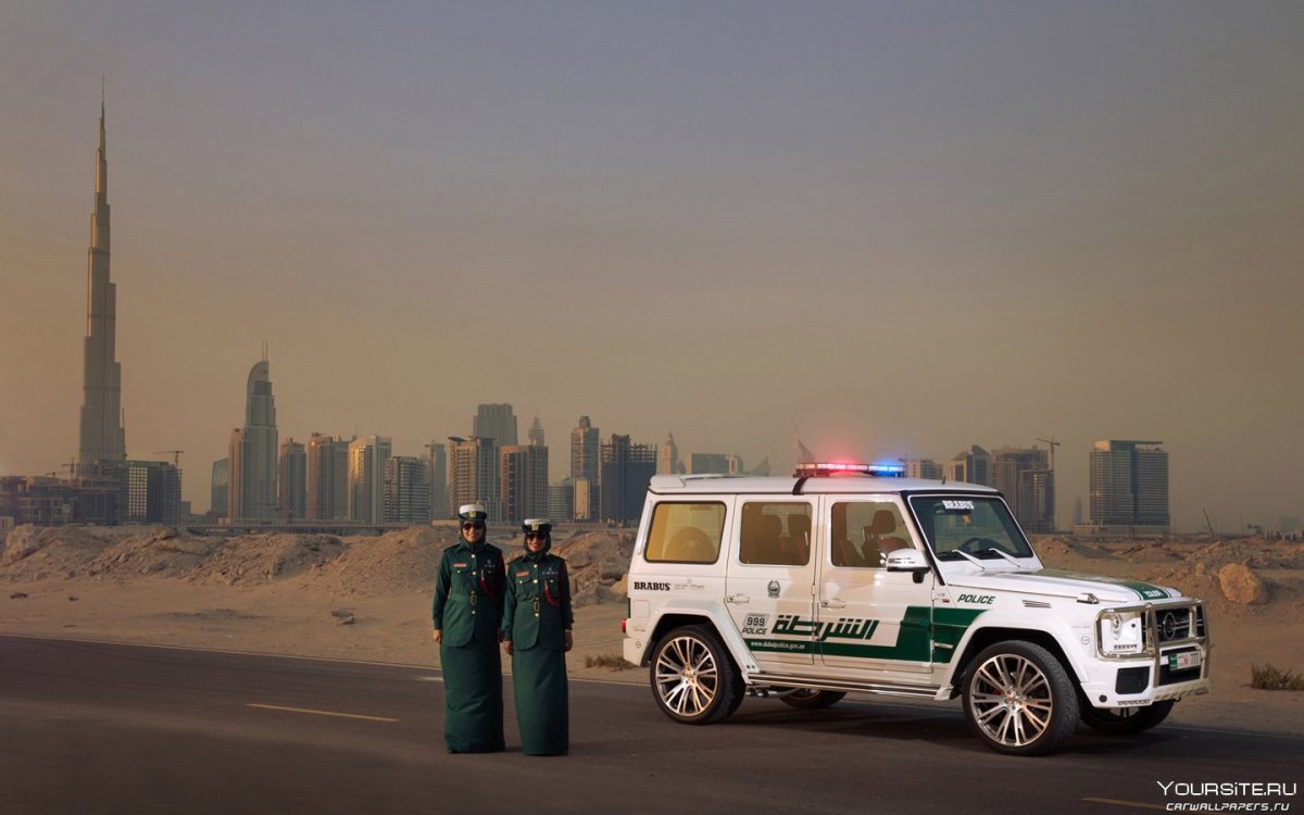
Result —
[[[974,672],[969,713],[992,742],[1022,747],[1050,726],[1055,709],[1051,685],[1029,659],[1000,653]]]

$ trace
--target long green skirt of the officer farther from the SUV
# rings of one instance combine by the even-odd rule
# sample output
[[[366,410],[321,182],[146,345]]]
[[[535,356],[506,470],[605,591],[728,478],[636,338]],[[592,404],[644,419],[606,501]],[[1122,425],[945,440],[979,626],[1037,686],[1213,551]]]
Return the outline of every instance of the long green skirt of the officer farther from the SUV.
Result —
[[[498,647],[439,644],[443,666],[443,742],[449,752],[497,752],[502,737],[502,657]]]

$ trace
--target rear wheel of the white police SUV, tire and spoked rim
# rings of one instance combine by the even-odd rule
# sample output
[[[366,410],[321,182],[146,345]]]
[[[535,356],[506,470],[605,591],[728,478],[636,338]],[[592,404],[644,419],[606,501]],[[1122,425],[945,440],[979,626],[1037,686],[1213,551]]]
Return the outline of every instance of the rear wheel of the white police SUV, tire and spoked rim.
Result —
[[[686,725],[724,721],[743,696],[742,674],[716,632],[685,626],[661,638],[648,669],[661,712]]]

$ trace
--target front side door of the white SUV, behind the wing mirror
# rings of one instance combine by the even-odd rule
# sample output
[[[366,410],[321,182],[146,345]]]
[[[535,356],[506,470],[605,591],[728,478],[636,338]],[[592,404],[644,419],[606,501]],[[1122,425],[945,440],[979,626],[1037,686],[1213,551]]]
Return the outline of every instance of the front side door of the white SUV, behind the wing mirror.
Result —
[[[932,575],[922,583],[884,569],[887,554],[918,549],[892,497],[828,496],[819,558],[815,647],[829,668],[918,674],[932,661]]]

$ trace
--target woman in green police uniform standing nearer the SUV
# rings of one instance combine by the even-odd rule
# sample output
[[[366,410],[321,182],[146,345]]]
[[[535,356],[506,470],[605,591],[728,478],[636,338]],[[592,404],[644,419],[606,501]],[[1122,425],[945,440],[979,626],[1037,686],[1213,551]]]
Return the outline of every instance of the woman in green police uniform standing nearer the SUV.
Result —
[[[570,579],[566,561],[552,549],[553,524],[532,518],[522,524],[526,554],[509,565],[503,602],[503,651],[511,655],[520,751],[566,755],[570,709],[566,652],[571,649]]]

